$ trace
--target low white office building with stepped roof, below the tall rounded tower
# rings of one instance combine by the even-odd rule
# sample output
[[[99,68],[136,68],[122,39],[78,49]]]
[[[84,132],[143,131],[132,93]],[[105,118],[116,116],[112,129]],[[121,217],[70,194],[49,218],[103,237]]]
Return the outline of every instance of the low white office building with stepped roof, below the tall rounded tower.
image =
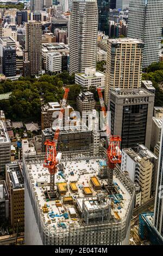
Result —
[[[101,71],[96,71],[96,69],[85,68],[84,73],[75,74],[75,83],[84,87],[86,90],[90,88],[105,88],[105,74]]]

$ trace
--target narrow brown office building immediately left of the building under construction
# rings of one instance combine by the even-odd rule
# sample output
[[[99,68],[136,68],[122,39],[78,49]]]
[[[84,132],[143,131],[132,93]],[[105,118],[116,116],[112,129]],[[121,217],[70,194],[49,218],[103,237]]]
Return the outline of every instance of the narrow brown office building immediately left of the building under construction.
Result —
[[[9,191],[10,224],[20,230],[24,229],[24,178],[21,162],[15,161],[5,166],[5,180]]]

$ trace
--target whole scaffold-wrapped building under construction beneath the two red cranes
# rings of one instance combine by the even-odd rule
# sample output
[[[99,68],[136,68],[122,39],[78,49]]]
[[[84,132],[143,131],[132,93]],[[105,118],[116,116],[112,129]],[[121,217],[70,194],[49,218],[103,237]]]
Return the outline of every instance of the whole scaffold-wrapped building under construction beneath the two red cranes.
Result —
[[[44,157],[23,158],[26,245],[127,245],[135,187],[118,167],[108,186],[106,150],[63,152],[53,198]]]

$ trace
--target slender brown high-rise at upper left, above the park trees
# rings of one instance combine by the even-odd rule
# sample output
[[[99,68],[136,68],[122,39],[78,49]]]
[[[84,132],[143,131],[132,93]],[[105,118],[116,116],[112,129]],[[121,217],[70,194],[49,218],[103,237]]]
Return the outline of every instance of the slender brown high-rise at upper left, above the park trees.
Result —
[[[26,23],[26,51],[30,62],[30,74],[41,74],[41,22]]]

